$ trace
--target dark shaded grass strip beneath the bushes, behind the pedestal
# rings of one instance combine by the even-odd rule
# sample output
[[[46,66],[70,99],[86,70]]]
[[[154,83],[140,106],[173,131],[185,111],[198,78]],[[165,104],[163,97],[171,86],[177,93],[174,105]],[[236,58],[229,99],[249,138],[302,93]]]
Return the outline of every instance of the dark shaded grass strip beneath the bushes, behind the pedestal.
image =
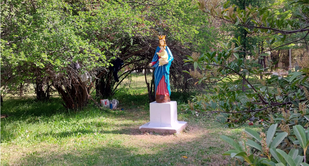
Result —
[[[177,101],[178,104],[187,103],[188,99],[193,93],[182,93],[182,92],[172,92],[171,101]],[[136,109],[141,106],[149,105],[148,94],[130,94],[125,92],[118,92],[113,98],[119,100],[118,108],[125,109]],[[99,100],[99,99],[98,99]],[[62,100],[59,97],[51,97],[49,101],[38,101],[36,99],[6,99],[4,103],[1,105],[1,114],[6,114],[9,116],[14,116],[17,119],[22,116],[52,116],[57,113],[72,113],[72,112],[80,112],[83,110],[72,111],[67,110],[62,105]],[[84,109],[89,109],[89,107],[94,107],[98,109],[96,106],[91,103]]]

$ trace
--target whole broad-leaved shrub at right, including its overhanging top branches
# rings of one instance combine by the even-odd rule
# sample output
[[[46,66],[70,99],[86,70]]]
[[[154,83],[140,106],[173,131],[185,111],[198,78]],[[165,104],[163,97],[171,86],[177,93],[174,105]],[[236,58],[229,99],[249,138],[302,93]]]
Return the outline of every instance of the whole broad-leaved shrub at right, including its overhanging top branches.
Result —
[[[215,7],[206,1],[200,2],[200,9],[215,18],[224,19],[234,26],[242,26],[250,34],[268,35],[273,39],[265,40],[269,46],[268,50],[255,45],[254,50],[246,50],[238,37],[233,38],[237,47],[230,48],[226,44],[221,50],[187,56],[188,59],[184,60],[185,65],[192,64],[194,71],[184,72],[189,73],[192,79],[197,81],[196,84],[206,82],[215,83],[217,86],[206,90],[205,94],[194,96],[192,101],[188,101],[188,105],[184,105],[185,109],[191,110],[193,114],[219,114],[216,121],[230,128],[237,128],[249,120],[261,123],[263,129],[260,133],[249,128],[244,130],[244,133],[252,136],[255,141],[249,139],[246,134],[243,134],[239,144],[221,136],[235,148],[227,151],[225,155],[238,158],[250,165],[308,165],[306,154],[309,144],[309,58],[305,57],[303,61],[298,62],[299,66],[296,66],[294,71],[289,70],[288,76],[285,77],[272,73],[278,61],[269,60],[269,66],[256,64],[259,60],[265,61],[265,57],[269,55],[267,51],[303,40],[309,31],[305,26],[300,26],[299,22],[296,23],[297,20],[275,18],[268,7],[249,6],[245,10],[237,8],[236,12],[230,12],[236,6],[231,6],[229,1],[221,6],[216,4]],[[293,1],[292,4],[300,7],[302,14],[307,14],[304,10],[309,9],[308,2]],[[256,18],[259,19],[256,21]],[[271,20],[277,20],[277,23]],[[296,29],[308,32],[302,38],[286,42],[286,34]],[[277,35],[278,32],[281,32],[280,35]],[[239,56],[240,53],[246,54],[242,57]],[[250,58],[247,58],[248,56]],[[259,76],[263,79],[258,83],[252,80]]]

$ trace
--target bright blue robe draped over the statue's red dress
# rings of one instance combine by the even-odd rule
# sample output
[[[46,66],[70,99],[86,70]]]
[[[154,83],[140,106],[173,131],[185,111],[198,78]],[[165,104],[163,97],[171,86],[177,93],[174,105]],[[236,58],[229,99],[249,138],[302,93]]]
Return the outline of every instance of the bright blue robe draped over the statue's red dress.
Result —
[[[171,53],[171,50],[168,47],[166,47],[165,50],[168,55],[167,64],[163,66],[159,66],[159,56],[157,54],[160,51],[159,46],[155,50],[155,56],[152,58],[152,61],[151,61],[151,62],[156,62],[155,65],[153,65],[153,67],[155,67],[155,93],[157,92],[157,87],[159,85],[160,80],[162,79],[162,76],[164,76],[168,93],[171,96],[170,79],[168,75],[170,74],[171,62],[173,61],[174,57]]]

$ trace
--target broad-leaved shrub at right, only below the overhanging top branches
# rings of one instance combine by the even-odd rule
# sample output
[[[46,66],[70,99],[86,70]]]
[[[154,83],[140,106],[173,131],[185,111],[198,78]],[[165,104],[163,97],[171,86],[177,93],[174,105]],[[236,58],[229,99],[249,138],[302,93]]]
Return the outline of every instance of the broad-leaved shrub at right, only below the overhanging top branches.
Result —
[[[304,128],[307,128],[309,121],[309,60],[300,63],[300,68],[296,67],[294,72],[290,70],[287,77],[282,77],[271,74],[276,62],[266,69],[250,66],[246,60],[238,57],[236,51],[240,47],[241,45],[234,49],[223,48],[222,51],[201,54],[199,57],[187,56],[185,61],[192,63],[195,71],[184,72],[190,73],[198,80],[197,83],[215,82],[217,86],[206,90],[206,94],[193,97],[192,101],[185,105],[185,109],[192,113],[220,113],[221,116],[218,116],[216,121],[232,128],[237,128],[248,120],[254,123],[263,120],[260,126],[264,129],[260,134],[249,128],[245,129],[257,142],[243,137],[238,145],[221,136],[235,148],[227,151],[226,155],[251,165],[258,162],[275,165],[271,161],[272,157],[277,162],[284,164],[285,161],[290,166],[299,165],[303,160],[306,162],[309,132]],[[231,56],[234,56],[234,60],[229,62]],[[254,63],[256,60],[252,58],[251,61]],[[253,84],[248,80],[265,70],[269,72],[264,73],[265,80],[261,80],[261,84]],[[276,137],[273,139],[275,133]],[[280,146],[276,150],[278,145]],[[267,158],[258,159],[259,156],[252,154],[257,151]],[[289,152],[289,155],[285,151]],[[302,152],[304,156],[298,156],[298,153]],[[278,157],[280,155],[282,160]],[[293,160],[292,164],[289,163],[290,160]]]

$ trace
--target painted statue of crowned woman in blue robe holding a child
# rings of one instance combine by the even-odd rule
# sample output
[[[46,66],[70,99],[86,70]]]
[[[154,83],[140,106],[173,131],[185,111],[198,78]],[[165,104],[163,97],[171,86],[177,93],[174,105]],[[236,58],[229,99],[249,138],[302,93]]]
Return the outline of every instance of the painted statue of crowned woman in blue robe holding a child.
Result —
[[[157,103],[167,103],[171,101],[169,73],[171,62],[174,57],[165,43],[165,36],[166,35],[158,36],[159,46],[155,51],[155,56],[149,64],[155,67],[155,99]]]

